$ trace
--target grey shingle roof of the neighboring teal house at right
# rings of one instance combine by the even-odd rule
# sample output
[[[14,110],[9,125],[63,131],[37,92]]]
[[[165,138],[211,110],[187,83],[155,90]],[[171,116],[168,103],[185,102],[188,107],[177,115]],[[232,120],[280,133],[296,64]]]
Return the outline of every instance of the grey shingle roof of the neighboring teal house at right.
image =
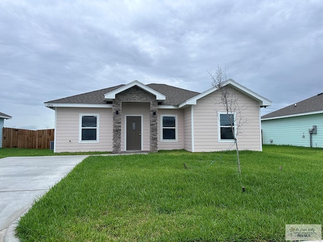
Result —
[[[323,112],[323,93],[319,93],[303,101],[293,103],[292,105],[289,105],[287,107],[284,107],[274,112],[263,115],[261,116],[261,118],[297,115],[301,113],[315,112],[315,111]]]

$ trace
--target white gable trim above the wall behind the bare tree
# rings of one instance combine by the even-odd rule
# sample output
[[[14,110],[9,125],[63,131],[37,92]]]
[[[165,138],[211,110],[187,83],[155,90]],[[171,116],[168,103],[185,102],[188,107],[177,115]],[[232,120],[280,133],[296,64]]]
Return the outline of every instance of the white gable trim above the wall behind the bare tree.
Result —
[[[253,98],[253,99],[256,99],[259,101],[259,106],[260,107],[266,107],[266,106],[270,106],[272,105],[272,101],[271,100],[268,100],[262,96],[260,96],[259,94],[251,91],[250,89],[242,86],[241,84],[235,82],[234,80],[232,79],[228,79],[225,83],[224,83],[224,86],[226,85],[230,85],[231,87],[233,87],[234,89],[237,89],[239,90],[240,92],[244,93],[245,95]],[[202,97],[205,97],[206,95],[214,92],[214,91],[217,91],[218,88],[217,87],[212,87],[208,90],[206,90],[205,92],[202,92],[200,93],[199,95],[195,96],[195,97],[192,97],[184,102],[182,102],[179,107],[183,107],[185,105],[195,105],[196,104],[196,101]]]

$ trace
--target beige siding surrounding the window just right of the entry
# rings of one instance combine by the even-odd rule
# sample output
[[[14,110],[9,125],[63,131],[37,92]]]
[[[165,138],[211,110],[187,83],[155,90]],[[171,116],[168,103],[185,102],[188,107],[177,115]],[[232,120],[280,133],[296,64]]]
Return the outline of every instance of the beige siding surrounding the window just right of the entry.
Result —
[[[177,115],[177,141],[160,141],[160,115],[161,114],[170,114]],[[157,112],[157,139],[158,139],[158,150],[178,150],[184,149],[184,127],[183,127],[183,110],[182,109],[163,109],[159,108]]]

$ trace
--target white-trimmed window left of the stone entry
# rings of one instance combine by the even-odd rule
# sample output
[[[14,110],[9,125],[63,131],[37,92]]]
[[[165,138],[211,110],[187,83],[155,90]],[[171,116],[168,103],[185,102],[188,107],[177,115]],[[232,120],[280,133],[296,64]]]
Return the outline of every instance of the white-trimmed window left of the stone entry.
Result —
[[[79,142],[99,141],[99,114],[80,114]]]

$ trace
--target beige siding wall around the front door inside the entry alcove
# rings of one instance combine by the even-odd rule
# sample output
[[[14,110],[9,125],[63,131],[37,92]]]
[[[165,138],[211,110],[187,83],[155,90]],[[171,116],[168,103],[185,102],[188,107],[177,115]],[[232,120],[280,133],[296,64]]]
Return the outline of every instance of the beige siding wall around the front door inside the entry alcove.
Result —
[[[149,102],[122,102],[121,112],[121,151],[125,151],[125,116],[126,115],[142,115],[142,131],[144,151],[150,150],[150,103]]]

